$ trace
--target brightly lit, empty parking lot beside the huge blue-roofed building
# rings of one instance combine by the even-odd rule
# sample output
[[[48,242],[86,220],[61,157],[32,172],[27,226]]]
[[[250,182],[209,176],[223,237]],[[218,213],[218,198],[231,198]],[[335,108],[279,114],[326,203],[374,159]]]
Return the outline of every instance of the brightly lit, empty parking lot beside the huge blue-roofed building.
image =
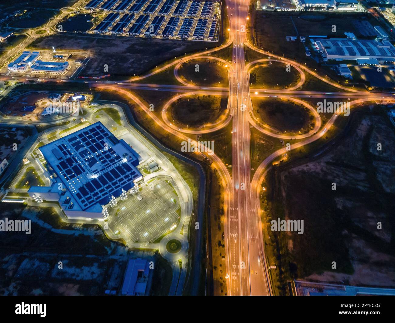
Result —
[[[143,183],[137,194],[108,209],[108,225],[126,242],[152,243],[176,227],[179,209],[174,188],[163,177],[155,177]]]

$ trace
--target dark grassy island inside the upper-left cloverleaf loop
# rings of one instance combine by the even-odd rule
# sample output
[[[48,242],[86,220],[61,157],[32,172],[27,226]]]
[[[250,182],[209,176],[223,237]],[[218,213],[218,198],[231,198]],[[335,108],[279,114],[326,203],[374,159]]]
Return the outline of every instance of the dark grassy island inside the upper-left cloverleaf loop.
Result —
[[[186,82],[201,86],[229,86],[227,64],[209,59],[185,62],[179,68],[179,76]]]

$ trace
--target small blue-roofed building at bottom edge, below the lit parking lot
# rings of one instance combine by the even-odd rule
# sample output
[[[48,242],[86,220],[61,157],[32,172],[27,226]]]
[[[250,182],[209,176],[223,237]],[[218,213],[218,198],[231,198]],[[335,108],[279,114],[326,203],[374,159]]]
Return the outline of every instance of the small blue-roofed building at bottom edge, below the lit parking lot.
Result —
[[[149,262],[145,259],[130,259],[126,269],[122,295],[144,295],[149,275]]]

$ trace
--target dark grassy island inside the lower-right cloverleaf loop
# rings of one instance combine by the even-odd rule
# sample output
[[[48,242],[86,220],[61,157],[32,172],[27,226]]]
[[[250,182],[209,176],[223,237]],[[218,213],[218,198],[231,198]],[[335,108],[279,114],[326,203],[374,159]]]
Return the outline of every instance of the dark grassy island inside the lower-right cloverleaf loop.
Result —
[[[314,116],[297,103],[274,98],[252,98],[254,116],[269,127],[281,132],[308,131],[314,127]]]

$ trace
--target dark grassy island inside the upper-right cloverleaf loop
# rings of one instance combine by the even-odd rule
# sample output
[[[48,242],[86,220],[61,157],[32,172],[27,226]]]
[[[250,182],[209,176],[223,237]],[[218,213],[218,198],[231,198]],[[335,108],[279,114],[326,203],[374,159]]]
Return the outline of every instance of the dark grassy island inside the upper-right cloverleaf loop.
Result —
[[[284,89],[296,84],[300,79],[299,72],[292,66],[279,62],[262,63],[250,71],[250,84],[258,88]]]

